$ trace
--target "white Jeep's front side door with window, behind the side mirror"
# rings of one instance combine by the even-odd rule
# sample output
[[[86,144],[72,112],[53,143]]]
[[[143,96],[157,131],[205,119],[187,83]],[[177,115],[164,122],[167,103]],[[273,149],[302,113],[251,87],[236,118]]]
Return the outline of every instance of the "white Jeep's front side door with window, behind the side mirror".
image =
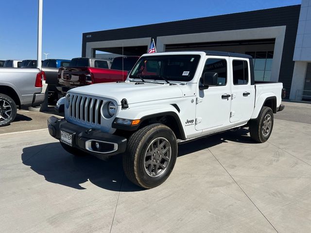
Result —
[[[217,85],[199,90],[196,105],[196,130],[212,130],[229,124],[230,115],[230,72],[229,59],[224,57],[207,58],[205,72],[217,72]]]

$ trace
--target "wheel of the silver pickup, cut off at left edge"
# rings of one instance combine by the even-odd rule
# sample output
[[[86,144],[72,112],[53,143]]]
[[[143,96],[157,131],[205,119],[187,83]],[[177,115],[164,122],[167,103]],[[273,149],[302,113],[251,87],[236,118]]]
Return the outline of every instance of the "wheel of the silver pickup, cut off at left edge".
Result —
[[[8,110],[11,110],[10,112],[7,112],[9,116],[5,114],[5,112]],[[17,106],[15,101],[7,95],[0,94],[0,116],[1,116],[0,127],[11,124],[11,122],[15,119],[16,115],[17,115]]]

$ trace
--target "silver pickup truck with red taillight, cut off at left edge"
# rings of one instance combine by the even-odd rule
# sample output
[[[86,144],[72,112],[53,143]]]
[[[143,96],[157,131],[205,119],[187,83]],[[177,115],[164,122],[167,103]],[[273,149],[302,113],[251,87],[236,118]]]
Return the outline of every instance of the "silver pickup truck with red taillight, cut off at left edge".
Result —
[[[44,100],[45,74],[37,68],[0,68],[0,127],[16,117],[17,106],[38,106]]]

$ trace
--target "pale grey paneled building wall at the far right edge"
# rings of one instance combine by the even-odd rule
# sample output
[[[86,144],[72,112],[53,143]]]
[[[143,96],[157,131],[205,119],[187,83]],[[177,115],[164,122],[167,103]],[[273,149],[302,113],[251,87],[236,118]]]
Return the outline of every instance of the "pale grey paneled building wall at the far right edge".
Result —
[[[295,61],[293,81],[291,87],[291,100],[301,100],[297,90],[304,89],[308,62],[311,62],[311,0],[302,0],[294,57]]]

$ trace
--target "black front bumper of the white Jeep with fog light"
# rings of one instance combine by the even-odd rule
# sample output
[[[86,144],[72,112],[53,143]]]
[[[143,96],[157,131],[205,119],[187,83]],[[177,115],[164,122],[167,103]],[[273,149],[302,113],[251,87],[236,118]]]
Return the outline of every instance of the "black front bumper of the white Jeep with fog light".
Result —
[[[108,156],[125,152],[127,139],[114,134],[103,133],[96,129],[69,123],[66,119],[51,116],[48,119],[49,133],[52,137],[60,140],[60,131],[72,133],[72,147],[83,150],[100,159],[105,160]],[[95,147],[98,142],[100,148]]]

